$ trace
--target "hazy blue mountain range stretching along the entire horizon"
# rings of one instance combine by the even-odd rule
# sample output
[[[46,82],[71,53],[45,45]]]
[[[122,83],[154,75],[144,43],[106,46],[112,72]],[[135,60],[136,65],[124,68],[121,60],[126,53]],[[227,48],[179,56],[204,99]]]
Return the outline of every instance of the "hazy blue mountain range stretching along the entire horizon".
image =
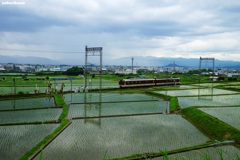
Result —
[[[99,61],[90,61],[93,64],[99,65]],[[52,64],[52,65],[84,65],[84,59],[74,59],[71,57],[63,60],[52,60],[44,57],[32,56],[7,56],[0,55],[0,63],[16,63],[16,64]],[[157,67],[199,67],[199,58],[168,58],[168,57],[152,57],[152,56],[135,56],[133,60],[134,66],[157,66]],[[118,59],[103,58],[103,65],[123,65],[131,66],[132,57],[123,57]],[[202,61],[202,67],[212,67],[211,61]],[[240,68],[240,62],[223,61],[215,59],[215,68]]]

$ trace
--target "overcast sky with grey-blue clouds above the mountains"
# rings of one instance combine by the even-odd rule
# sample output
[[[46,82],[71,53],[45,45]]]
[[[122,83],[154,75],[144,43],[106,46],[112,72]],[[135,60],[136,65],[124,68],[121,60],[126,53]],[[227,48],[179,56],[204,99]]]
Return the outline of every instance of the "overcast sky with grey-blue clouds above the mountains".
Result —
[[[84,59],[87,45],[103,47],[104,60],[201,56],[240,61],[239,0],[0,2],[0,55],[76,61]]]

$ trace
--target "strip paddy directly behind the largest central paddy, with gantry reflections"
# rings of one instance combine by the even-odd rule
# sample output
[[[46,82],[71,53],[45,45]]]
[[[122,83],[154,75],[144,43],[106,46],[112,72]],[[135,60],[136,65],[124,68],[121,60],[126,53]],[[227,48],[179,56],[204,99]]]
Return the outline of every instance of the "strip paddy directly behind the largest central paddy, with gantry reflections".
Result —
[[[167,101],[146,101],[128,103],[97,103],[97,104],[72,104],[68,118],[109,116],[123,114],[165,113]]]

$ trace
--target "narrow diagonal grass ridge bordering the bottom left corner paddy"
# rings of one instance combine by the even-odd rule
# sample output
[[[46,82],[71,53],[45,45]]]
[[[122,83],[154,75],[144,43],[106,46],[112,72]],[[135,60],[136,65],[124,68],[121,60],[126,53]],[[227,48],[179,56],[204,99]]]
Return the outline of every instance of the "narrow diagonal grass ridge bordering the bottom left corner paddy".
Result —
[[[53,139],[55,139],[70,124],[71,124],[71,121],[62,120],[60,125],[51,134],[43,138],[36,146],[34,146],[31,150],[29,150],[19,159],[26,160],[26,159],[34,158],[39,152],[41,152],[41,150],[43,150]]]

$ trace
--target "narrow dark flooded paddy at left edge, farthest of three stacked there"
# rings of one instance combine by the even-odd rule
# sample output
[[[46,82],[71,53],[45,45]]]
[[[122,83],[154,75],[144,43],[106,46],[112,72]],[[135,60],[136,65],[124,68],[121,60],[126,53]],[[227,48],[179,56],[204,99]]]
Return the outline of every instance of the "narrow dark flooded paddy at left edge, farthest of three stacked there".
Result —
[[[0,101],[0,110],[54,107],[53,97],[27,98]]]

